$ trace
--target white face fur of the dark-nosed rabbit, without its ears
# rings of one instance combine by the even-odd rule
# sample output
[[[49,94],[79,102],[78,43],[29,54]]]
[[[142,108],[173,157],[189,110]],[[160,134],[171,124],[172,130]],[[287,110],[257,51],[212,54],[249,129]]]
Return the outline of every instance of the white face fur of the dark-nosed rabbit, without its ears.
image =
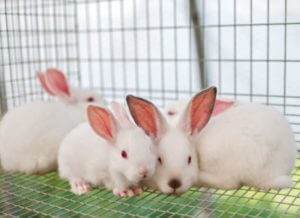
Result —
[[[196,147],[179,126],[168,125],[157,145],[157,154],[161,157],[162,164],[157,164],[154,176],[146,181],[147,186],[158,188],[166,194],[182,194],[197,181]],[[191,164],[188,164],[189,156],[192,158]],[[175,192],[168,185],[172,179],[181,182]]]

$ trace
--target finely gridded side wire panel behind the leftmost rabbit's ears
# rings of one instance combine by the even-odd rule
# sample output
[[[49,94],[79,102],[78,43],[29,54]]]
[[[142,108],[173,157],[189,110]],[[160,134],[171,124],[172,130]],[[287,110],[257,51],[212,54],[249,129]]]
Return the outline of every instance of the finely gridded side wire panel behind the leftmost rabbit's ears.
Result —
[[[42,97],[37,71],[55,66],[68,73],[72,82],[78,81],[75,9],[74,4],[66,1],[64,4],[59,1],[1,2],[0,102],[3,112]]]

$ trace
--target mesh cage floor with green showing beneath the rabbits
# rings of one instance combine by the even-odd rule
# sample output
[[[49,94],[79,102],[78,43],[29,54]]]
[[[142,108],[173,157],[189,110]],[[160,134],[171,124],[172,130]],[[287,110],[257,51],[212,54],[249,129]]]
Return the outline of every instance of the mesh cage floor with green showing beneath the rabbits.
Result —
[[[145,191],[126,200],[104,189],[76,196],[56,173],[35,176],[0,171],[0,216],[300,217],[300,155],[293,179],[293,188],[280,191],[201,188],[179,197]]]

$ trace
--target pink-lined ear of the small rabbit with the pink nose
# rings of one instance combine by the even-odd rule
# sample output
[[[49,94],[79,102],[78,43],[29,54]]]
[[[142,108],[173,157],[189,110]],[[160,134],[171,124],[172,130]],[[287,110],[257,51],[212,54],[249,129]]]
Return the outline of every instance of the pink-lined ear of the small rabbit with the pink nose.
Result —
[[[114,143],[117,135],[117,124],[113,115],[106,109],[88,106],[88,120],[93,130],[110,143]]]

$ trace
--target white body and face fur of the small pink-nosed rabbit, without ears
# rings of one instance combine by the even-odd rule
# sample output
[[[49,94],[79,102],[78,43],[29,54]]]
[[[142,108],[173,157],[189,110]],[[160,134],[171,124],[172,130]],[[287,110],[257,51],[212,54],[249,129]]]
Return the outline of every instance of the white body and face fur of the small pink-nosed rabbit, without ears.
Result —
[[[156,156],[152,146],[150,138],[134,125],[121,126],[114,144],[110,144],[88,123],[83,123],[73,129],[61,144],[59,174],[71,185],[79,180],[94,186],[104,185],[114,194],[121,195],[144,179],[139,169],[147,169],[147,177],[153,175]],[[122,158],[122,150],[127,151],[128,159]]]

